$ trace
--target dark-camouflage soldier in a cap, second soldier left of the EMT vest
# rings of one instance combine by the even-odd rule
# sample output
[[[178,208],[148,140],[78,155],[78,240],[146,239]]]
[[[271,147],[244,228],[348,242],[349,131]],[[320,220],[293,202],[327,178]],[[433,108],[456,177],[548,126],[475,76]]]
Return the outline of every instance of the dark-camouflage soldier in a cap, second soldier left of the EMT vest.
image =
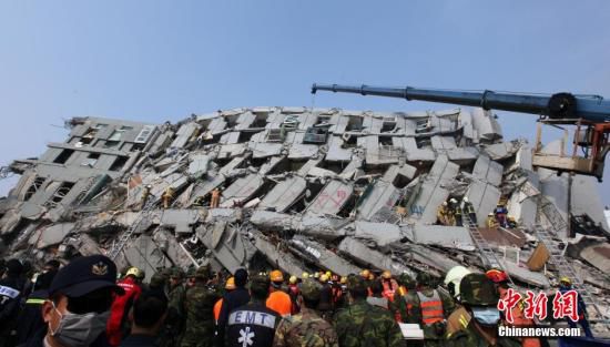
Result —
[[[218,294],[207,286],[211,275],[210,267],[200,266],[195,271],[195,283],[186,290],[186,325],[182,347],[212,347],[214,344],[214,304]]]

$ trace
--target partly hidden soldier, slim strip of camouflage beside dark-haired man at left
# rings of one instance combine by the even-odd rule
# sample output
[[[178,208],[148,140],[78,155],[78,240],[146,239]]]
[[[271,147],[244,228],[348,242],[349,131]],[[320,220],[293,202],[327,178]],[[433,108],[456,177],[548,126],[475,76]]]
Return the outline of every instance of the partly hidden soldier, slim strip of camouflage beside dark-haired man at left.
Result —
[[[179,346],[182,331],[184,329],[184,297],[186,290],[183,285],[184,272],[174,267],[170,272],[170,282],[167,288],[167,319],[165,319],[165,330],[161,345]]]

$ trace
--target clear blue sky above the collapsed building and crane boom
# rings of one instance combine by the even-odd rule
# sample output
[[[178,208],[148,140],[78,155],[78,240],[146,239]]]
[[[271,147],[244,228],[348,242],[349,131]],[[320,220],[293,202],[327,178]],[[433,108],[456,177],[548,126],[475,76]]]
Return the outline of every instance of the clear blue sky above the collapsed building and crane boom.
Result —
[[[314,99],[313,82],[610,98],[609,81],[606,0],[0,0],[0,164],[63,141],[72,116],[161,123],[256,105],[450,108]],[[532,140],[535,116],[498,115],[505,137]]]

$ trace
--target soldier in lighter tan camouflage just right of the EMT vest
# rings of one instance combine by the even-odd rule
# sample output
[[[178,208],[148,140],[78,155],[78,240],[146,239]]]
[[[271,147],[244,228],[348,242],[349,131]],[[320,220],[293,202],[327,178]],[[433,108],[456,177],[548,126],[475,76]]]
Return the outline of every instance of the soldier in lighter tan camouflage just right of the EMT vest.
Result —
[[[298,297],[301,313],[282,319],[275,330],[274,347],[338,347],[335,329],[315,312],[319,298],[319,285],[305,279]]]

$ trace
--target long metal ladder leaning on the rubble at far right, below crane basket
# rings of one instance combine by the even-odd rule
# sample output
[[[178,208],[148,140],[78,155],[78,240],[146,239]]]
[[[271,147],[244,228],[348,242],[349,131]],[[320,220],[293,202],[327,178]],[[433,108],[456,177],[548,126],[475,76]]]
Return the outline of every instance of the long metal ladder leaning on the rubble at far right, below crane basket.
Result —
[[[589,290],[584,287],[583,280],[578,276],[577,272],[563,255],[563,249],[561,249],[558,242],[555,241],[557,235],[553,235],[549,229],[543,228],[540,225],[536,225],[533,228],[536,237],[545,244],[549,251],[550,262],[557,267],[559,276],[568,276],[572,280],[572,288],[578,292],[580,298],[587,307],[592,307],[594,313],[598,315],[598,319],[593,320],[604,320],[603,314],[599,308],[596,299],[592,295],[589,294]],[[558,276],[558,277],[559,277]]]

